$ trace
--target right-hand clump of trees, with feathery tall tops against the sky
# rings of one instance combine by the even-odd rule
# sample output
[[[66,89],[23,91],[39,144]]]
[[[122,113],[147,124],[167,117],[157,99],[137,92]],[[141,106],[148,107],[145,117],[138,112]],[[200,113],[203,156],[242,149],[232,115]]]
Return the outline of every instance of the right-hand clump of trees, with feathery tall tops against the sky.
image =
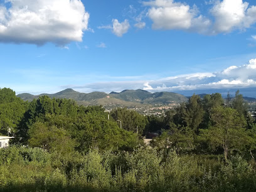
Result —
[[[166,126],[164,133],[154,139],[156,147],[175,147],[189,154],[232,154],[255,156],[255,115],[247,110],[242,94],[236,92],[231,100],[220,93],[190,97],[187,103],[169,110],[158,123]],[[156,118],[156,117],[154,117]]]

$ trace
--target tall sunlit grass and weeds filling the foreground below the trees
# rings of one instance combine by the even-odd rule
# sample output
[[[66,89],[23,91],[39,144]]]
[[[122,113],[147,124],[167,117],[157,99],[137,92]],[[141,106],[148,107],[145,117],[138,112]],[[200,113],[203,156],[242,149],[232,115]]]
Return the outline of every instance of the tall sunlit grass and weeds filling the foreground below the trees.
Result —
[[[144,147],[59,156],[11,146],[0,149],[0,191],[256,191],[256,175],[240,156],[225,162]]]

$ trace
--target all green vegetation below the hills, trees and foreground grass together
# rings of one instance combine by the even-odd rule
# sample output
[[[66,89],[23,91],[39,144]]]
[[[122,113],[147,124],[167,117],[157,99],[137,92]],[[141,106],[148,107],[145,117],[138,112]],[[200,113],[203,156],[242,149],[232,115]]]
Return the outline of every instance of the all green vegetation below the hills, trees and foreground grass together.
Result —
[[[142,136],[161,132],[151,146]],[[256,125],[242,95],[190,97],[163,117],[0,89],[0,191],[256,191]]]

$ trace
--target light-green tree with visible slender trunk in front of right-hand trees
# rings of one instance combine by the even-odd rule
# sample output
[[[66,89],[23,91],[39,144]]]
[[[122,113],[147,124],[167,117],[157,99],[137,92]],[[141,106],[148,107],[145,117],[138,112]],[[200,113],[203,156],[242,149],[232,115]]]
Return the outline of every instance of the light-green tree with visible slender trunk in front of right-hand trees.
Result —
[[[247,142],[245,119],[230,107],[217,107],[211,112],[213,125],[201,130],[201,137],[208,139],[214,149],[221,147],[227,161],[228,152],[240,151]]]

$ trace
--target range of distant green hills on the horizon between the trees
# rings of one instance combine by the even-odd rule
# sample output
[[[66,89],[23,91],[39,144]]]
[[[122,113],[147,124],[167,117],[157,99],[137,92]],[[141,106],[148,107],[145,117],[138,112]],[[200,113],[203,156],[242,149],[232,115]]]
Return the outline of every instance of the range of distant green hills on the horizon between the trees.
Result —
[[[150,93],[146,90],[124,90],[120,93],[111,92],[109,94],[104,92],[80,93],[72,88],[67,88],[61,92],[54,94],[40,94],[31,95],[29,93],[22,93],[17,95],[23,100],[31,101],[40,96],[47,95],[50,98],[56,99],[73,99],[78,104],[83,105],[104,105],[104,106],[125,106],[125,107],[139,107],[142,105],[155,105],[155,104],[171,104],[186,102],[188,99],[184,95],[170,92],[157,92]]]

